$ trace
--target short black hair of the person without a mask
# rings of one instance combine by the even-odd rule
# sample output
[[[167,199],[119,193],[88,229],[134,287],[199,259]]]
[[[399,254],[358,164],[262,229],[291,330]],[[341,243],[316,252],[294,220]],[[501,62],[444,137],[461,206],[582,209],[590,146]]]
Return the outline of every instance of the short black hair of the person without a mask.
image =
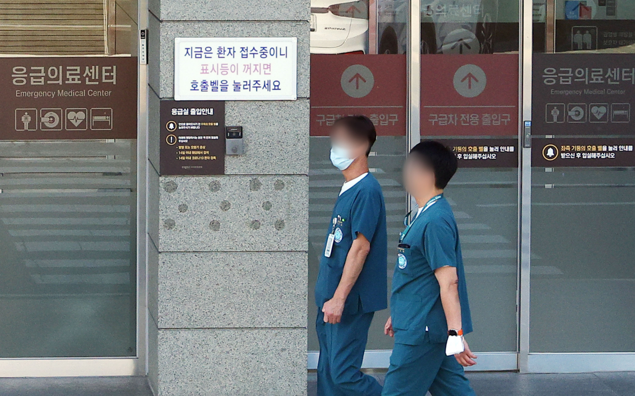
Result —
[[[458,159],[451,147],[434,140],[421,142],[410,150],[410,157],[434,170],[434,185],[444,189],[457,173]]]

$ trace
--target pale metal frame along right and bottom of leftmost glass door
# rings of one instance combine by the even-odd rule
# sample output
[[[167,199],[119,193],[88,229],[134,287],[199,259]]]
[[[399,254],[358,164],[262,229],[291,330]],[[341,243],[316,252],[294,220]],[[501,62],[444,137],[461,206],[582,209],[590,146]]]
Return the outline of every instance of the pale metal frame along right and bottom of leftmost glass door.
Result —
[[[138,0],[137,15],[138,30],[147,29],[148,0]],[[11,55],[10,57],[20,56]],[[138,64],[137,72],[137,355],[135,357],[0,358],[0,378],[147,375],[148,66]]]

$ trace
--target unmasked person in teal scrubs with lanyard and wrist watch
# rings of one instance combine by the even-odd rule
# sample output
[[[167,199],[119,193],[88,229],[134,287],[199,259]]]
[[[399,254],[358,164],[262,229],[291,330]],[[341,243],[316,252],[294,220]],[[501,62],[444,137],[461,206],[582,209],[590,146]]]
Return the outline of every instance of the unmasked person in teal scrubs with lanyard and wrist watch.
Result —
[[[400,235],[392,277],[384,331],[395,345],[384,396],[476,395],[463,369],[476,364],[476,356],[463,338],[472,319],[461,245],[443,196],[457,166],[452,150],[432,141],[417,144],[406,160],[404,184],[418,210]]]

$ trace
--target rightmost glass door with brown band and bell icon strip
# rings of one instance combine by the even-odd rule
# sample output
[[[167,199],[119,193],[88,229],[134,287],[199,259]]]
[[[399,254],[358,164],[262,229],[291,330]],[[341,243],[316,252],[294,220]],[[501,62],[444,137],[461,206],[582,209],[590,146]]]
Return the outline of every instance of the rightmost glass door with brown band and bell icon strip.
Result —
[[[534,1],[526,371],[635,366],[635,4]]]

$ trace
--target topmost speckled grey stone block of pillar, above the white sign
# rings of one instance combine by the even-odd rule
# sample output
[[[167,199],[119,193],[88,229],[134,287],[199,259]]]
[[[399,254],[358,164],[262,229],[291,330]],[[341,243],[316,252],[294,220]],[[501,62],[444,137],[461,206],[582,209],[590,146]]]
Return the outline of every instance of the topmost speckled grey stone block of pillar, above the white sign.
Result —
[[[161,20],[309,20],[309,0],[150,0]]]

